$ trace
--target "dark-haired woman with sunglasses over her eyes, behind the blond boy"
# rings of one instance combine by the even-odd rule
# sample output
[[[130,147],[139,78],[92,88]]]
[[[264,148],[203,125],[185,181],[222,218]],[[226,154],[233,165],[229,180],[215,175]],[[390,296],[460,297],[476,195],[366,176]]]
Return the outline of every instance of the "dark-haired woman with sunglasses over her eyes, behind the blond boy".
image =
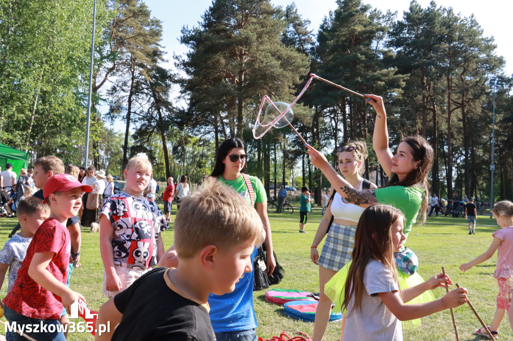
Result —
[[[215,165],[210,175],[232,187],[246,198],[257,210],[266,232],[267,273],[272,274],[276,262],[272,257],[271,225],[267,218],[267,195],[260,179],[246,174],[244,142],[241,139],[228,139],[221,143],[215,156]],[[257,255],[254,249],[251,258]],[[257,316],[253,309],[254,269],[245,273],[235,284],[233,292],[216,296],[210,294],[210,321],[218,340],[257,340]]]

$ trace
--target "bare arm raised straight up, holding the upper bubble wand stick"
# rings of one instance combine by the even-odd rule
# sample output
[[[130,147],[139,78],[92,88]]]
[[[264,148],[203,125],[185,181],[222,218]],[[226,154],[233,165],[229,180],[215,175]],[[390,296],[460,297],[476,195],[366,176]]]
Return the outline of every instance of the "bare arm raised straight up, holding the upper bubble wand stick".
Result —
[[[386,111],[383,98],[376,95],[365,95],[367,102],[376,110],[374,121],[374,133],[372,134],[372,147],[378,161],[388,177],[392,176],[393,154],[388,147],[388,127],[386,123]]]

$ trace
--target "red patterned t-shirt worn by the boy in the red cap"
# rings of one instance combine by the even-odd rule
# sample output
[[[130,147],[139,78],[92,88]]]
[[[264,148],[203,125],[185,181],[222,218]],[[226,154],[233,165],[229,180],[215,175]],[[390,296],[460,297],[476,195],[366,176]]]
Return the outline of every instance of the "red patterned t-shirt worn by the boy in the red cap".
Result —
[[[18,278],[3,302],[10,309],[27,317],[61,318],[61,297],[37,284],[28,274],[34,254],[40,252],[54,253],[46,269],[57,281],[66,284],[71,253],[69,232],[63,224],[54,218],[48,218],[34,233],[22,267],[18,271]]]

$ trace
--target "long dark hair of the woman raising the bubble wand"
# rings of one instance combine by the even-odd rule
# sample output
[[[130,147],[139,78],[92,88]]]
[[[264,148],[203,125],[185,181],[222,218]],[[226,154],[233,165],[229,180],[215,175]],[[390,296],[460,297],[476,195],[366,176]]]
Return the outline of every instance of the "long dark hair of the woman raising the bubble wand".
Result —
[[[427,176],[429,175],[429,171],[431,171],[431,166],[433,165],[433,148],[429,142],[420,135],[405,137],[401,142],[408,143],[411,148],[413,160],[420,161],[420,164],[417,168],[408,173],[402,181],[399,181],[397,174],[392,175],[388,182],[388,186],[418,186],[424,188],[422,204],[418,216],[419,219],[417,220],[420,223],[424,223],[426,221],[426,210],[429,197]]]

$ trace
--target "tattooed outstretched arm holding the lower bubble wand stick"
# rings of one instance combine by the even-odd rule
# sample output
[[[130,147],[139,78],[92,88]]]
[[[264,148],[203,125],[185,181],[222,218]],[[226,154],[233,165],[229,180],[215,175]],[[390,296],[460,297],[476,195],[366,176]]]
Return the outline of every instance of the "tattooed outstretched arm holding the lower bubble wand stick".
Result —
[[[360,191],[354,189],[349,182],[335,171],[324,154],[315,150],[315,148],[310,145],[306,145],[306,147],[308,149],[308,155],[310,155],[311,163],[321,169],[326,179],[328,179],[329,183],[337,190],[342,198],[346,198],[348,202],[364,208],[378,203],[374,189],[363,189]]]

